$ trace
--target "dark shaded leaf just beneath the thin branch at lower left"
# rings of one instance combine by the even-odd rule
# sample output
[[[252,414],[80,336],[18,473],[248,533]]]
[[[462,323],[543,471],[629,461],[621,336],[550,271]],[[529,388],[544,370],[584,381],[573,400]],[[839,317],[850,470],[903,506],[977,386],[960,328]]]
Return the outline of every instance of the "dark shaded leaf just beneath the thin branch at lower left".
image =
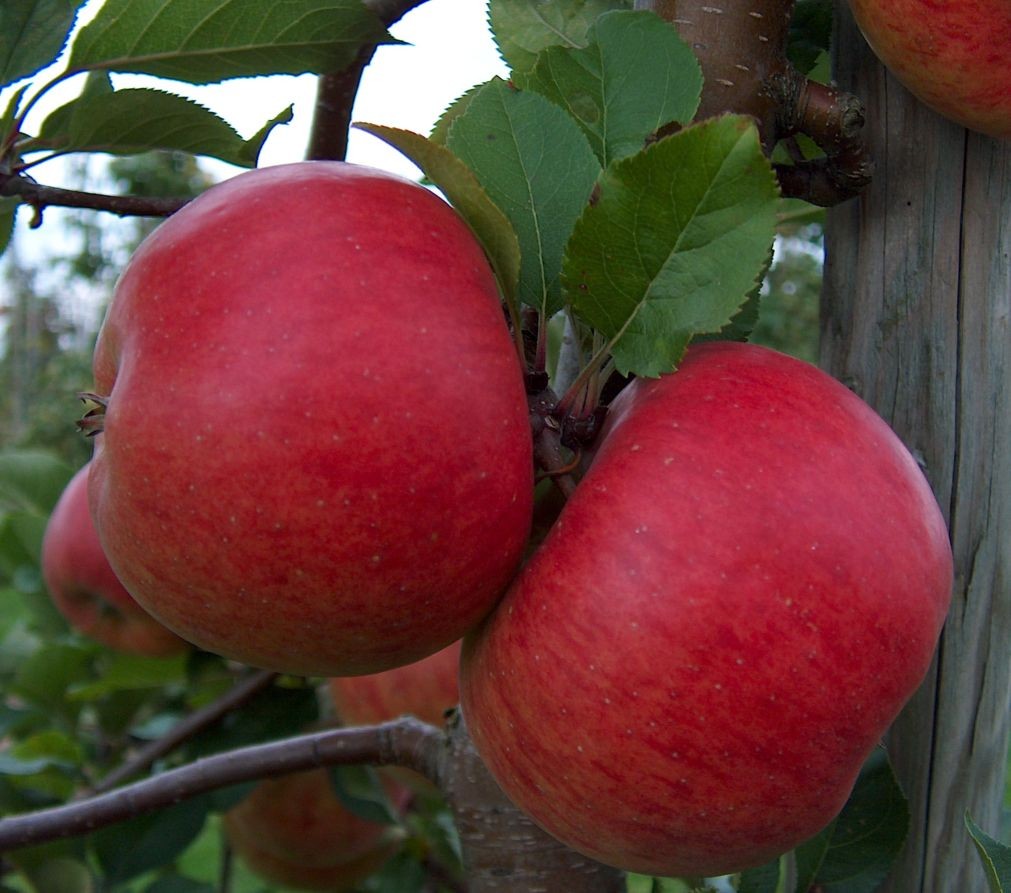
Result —
[[[172,862],[200,833],[207,800],[196,797],[103,828],[91,845],[109,884],[122,883]]]

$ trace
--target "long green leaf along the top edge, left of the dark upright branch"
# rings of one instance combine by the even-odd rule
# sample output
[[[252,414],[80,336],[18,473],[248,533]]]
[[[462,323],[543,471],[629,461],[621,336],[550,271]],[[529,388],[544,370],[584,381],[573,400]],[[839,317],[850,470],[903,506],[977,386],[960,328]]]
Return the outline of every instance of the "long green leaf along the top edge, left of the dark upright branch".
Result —
[[[363,46],[391,42],[361,0],[106,0],[75,38],[70,69],[208,84],[340,71]]]

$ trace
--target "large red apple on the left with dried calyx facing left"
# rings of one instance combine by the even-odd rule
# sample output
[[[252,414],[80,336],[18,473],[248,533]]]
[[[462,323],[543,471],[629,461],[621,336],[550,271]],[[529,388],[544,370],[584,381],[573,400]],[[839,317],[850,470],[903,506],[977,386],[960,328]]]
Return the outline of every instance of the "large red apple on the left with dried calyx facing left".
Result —
[[[91,500],[133,597],[311,676],[445,647],[513,576],[532,447],[494,277],[456,212],[340,162],[241,174],[125,269]]]

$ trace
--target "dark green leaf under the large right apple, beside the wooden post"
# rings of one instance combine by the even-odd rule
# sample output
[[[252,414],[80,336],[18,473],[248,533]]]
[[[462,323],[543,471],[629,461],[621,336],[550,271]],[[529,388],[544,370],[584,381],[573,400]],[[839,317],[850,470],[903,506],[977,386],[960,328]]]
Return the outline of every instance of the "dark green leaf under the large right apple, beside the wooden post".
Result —
[[[885,750],[877,748],[838,817],[797,847],[797,889],[874,893],[892,870],[908,830],[906,798]]]

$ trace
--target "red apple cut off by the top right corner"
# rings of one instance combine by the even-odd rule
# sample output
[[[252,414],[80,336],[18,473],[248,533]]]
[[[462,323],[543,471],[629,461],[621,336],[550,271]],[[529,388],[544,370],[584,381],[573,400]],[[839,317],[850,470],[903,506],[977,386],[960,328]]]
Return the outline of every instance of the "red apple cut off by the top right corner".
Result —
[[[921,101],[964,127],[1011,139],[1011,3],[849,0],[870,49]]]

